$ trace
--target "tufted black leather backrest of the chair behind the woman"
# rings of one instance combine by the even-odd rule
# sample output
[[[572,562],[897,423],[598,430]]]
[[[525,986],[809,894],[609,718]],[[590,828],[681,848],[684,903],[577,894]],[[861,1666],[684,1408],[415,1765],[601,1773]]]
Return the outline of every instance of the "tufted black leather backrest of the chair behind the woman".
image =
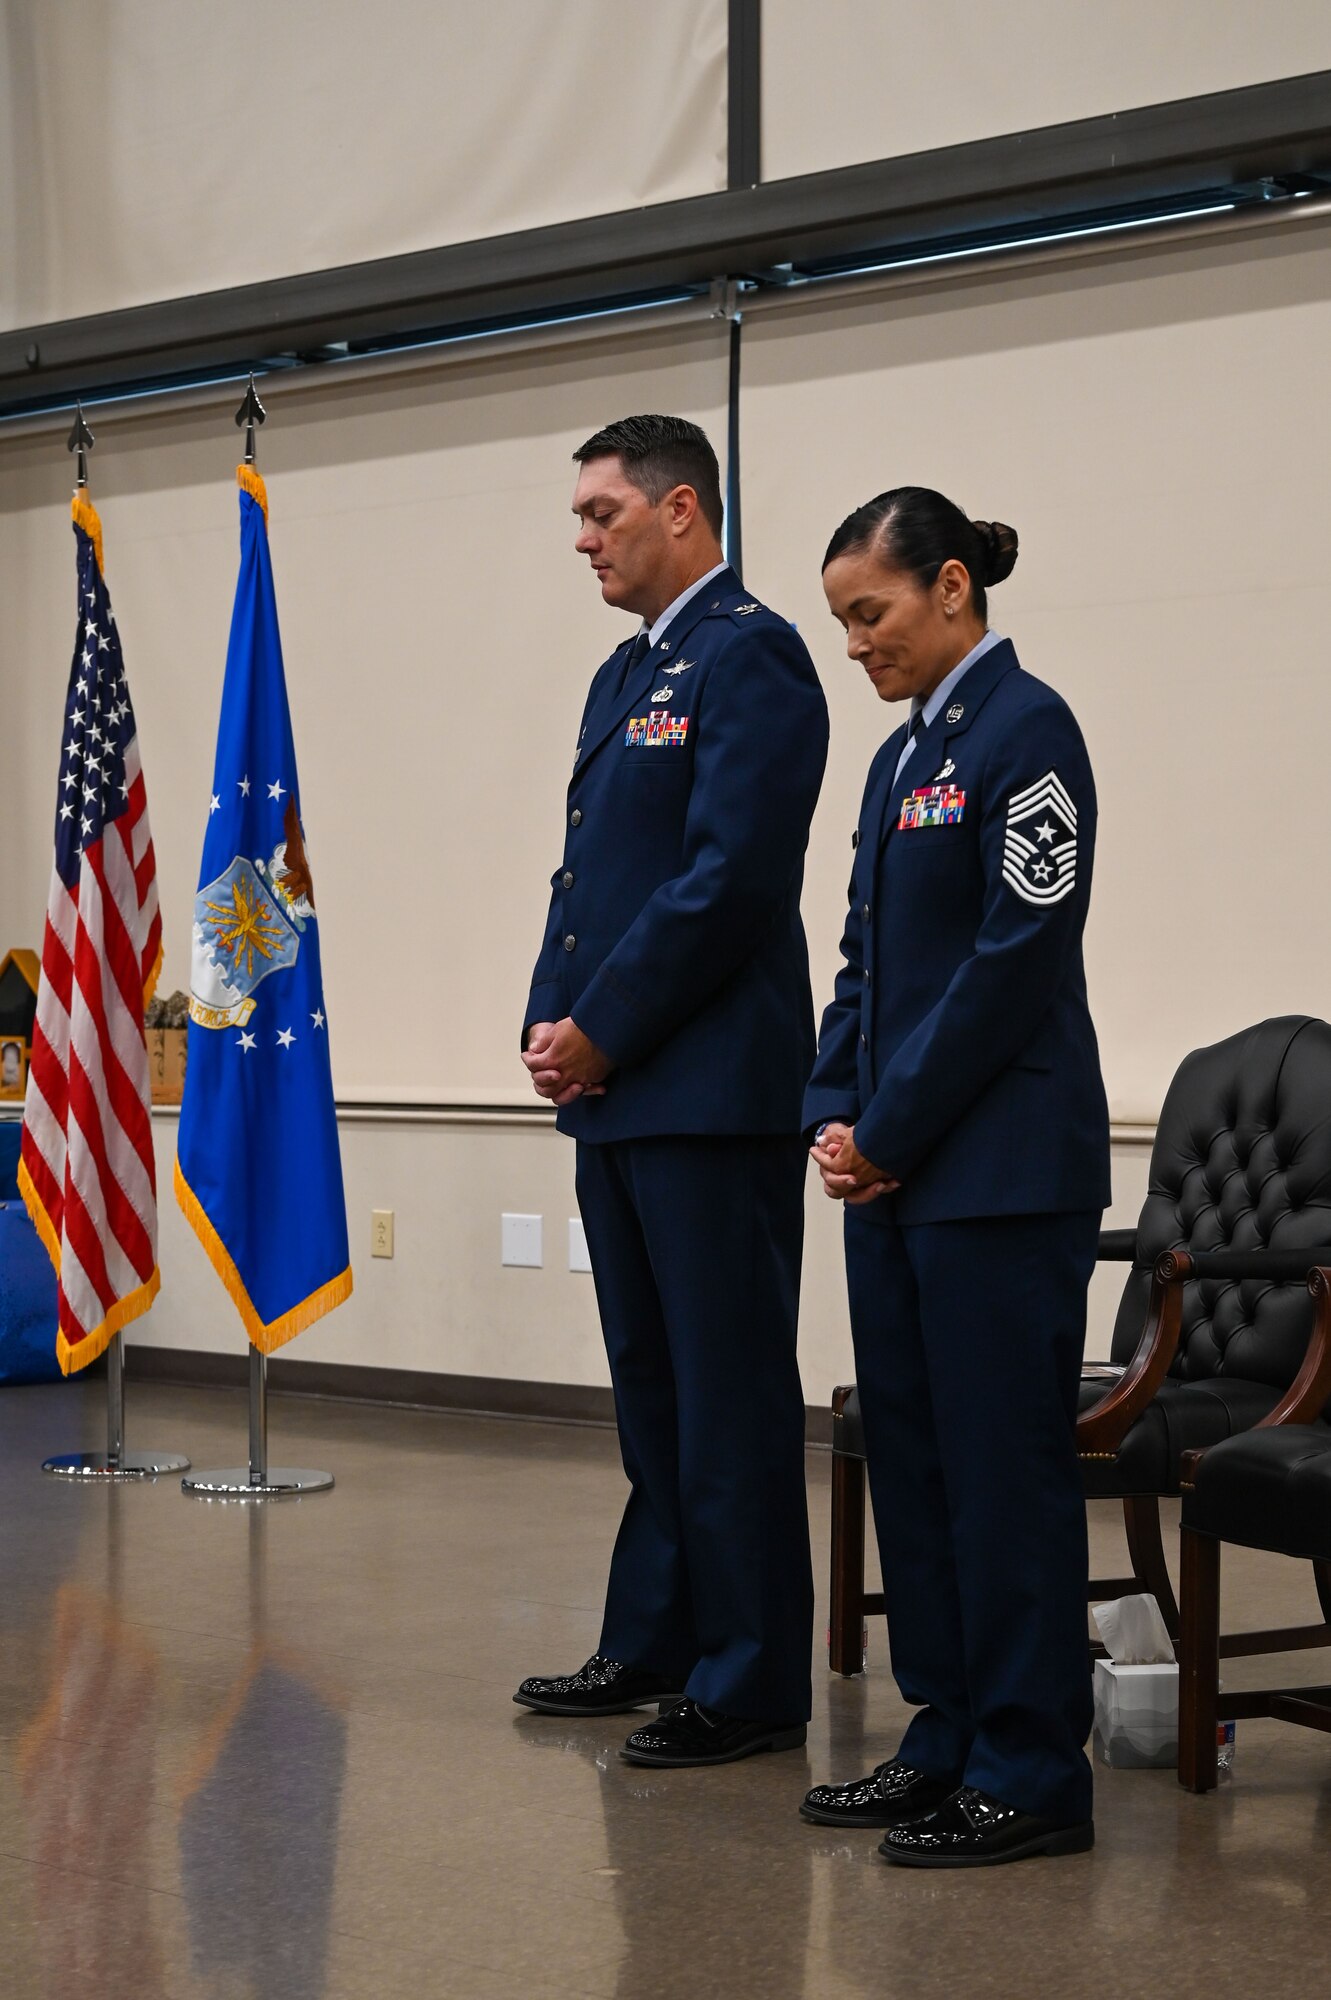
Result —
[[[1197,1048],[1159,1114],[1137,1258],[1113,1328],[1141,1336],[1161,1250],[1319,1250],[1331,1244],[1331,1026],[1283,1014]],[[1311,1258],[1309,1258],[1311,1262]],[[1299,1284],[1199,1282],[1183,1294],[1171,1374],[1289,1388],[1313,1326]]]

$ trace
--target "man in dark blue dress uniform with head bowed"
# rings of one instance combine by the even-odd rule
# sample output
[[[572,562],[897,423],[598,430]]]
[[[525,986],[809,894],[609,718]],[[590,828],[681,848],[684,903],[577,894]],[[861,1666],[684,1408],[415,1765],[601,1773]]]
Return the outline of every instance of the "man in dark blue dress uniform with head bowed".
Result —
[[[524,1062],[578,1140],[630,1498],[598,1652],[516,1700],[673,1700],[624,1756],[715,1764],[809,1716],[799,888],[827,708],[721,556],[695,424],[626,418],[574,456],[578,550],[642,630],[584,708]]]

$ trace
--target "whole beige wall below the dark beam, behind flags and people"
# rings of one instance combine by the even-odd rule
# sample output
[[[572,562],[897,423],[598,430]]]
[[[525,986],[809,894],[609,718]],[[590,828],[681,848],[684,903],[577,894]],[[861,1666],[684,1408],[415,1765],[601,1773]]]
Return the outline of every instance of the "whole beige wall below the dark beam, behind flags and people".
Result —
[[[747,582],[809,638],[833,754],[809,856],[819,1000],[847,834],[889,718],[817,588],[831,526],[895,478],[1013,520],[995,620],[1065,688],[1101,786],[1089,934],[1121,1118],[1177,1058],[1267,1012],[1327,1012],[1309,892],[1331,852],[1319,652],[1331,416],[1327,232],[1101,258],[745,332]],[[628,408],[721,432],[719,328],[278,392],[264,440],[338,1084],[524,1096],[514,1024],[546,902],[578,704],[624,630],[570,554],[572,446]],[[236,566],[230,410],[106,424],[94,488],[140,714],[168,924],[186,938]],[[0,942],[36,942],[72,626],[68,460],[0,440]],[[1295,844],[1297,842],[1297,844]],[[170,1188],[172,1120],[158,1120]],[[346,1124],[354,1302],[310,1358],[604,1380],[592,1282],[566,1266],[572,1150],[544,1130]],[[1115,1220],[1145,1154],[1115,1150]],[[398,1214],[368,1258],[370,1208]],[[542,1272],[500,1268],[500,1212],[546,1216]],[[849,1368],[835,1212],[809,1192],[805,1394]],[[240,1346],[170,1196],[164,1294],[136,1340]],[[1097,1278],[1107,1346],[1117,1272]]]

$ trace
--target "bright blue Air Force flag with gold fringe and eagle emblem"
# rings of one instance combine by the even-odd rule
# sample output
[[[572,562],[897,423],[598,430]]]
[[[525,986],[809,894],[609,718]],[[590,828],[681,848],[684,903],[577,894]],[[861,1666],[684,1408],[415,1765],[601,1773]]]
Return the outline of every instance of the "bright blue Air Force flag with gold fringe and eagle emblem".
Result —
[[[240,578],[204,864],[176,1200],[272,1354],[352,1290],[314,878],[268,558],[242,466]]]

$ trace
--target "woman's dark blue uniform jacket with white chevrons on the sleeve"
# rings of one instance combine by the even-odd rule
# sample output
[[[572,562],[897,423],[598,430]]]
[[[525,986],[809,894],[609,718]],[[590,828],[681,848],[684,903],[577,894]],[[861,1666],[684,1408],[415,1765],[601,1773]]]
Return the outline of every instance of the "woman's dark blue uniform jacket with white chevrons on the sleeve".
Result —
[[[1103,1208],[1109,1112],[1081,962],[1095,784],[1081,730],[1003,640],[893,782],[903,744],[899,728],[869,768],[805,1128],[853,1124],[863,1156],[901,1180],[865,1218]]]

